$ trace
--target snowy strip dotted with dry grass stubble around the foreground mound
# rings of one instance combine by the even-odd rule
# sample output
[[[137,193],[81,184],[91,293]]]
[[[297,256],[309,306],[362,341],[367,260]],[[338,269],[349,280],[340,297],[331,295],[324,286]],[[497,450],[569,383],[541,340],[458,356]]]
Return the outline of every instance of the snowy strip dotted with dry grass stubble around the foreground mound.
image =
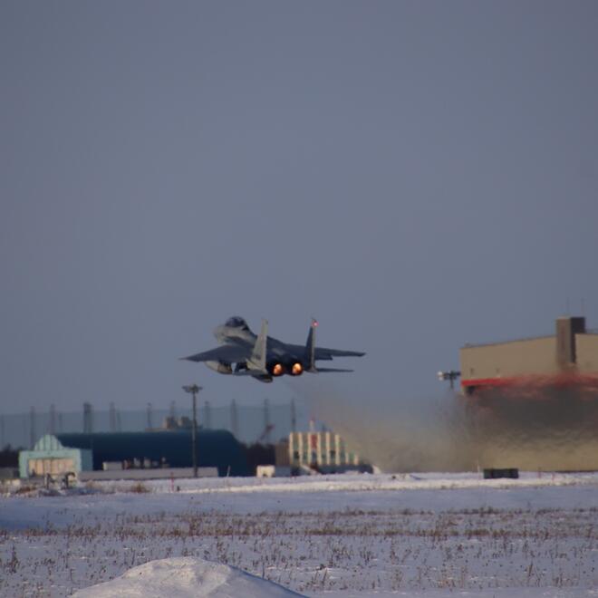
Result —
[[[37,595],[51,587],[68,593],[179,555],[241,567],[298,592],[593,587],[597,515],[596,509],[121,515],[0,535],[0,594],[25,588],[24,595]]]

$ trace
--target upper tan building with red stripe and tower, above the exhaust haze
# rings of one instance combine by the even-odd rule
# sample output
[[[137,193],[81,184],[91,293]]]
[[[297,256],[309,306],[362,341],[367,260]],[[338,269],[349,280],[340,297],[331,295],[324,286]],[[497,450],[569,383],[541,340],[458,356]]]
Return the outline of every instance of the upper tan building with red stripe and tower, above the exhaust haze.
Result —
[[[598,333],[586,330],[584,317],[561,317],[551,336],[468,344],[460,351],[460,364],[465,394],[530,383],[574,383],[598,389]]]

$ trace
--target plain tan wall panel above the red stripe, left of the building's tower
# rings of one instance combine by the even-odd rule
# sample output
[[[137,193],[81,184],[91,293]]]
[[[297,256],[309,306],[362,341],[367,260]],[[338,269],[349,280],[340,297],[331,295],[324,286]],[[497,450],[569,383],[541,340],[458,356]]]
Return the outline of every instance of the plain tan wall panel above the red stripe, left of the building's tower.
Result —
[[[554,336],[463,347],[460,362],[463,381],[559,371]]]

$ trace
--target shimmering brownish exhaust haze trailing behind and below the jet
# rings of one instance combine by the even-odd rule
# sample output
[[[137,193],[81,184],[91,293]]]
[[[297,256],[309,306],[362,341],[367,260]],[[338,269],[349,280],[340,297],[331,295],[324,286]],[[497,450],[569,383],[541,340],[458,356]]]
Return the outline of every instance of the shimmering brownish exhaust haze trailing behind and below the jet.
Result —
[[[318,420],[383,471],[598,468],[598,397],[579,389],[364,401],[316,383],[303,396]]]

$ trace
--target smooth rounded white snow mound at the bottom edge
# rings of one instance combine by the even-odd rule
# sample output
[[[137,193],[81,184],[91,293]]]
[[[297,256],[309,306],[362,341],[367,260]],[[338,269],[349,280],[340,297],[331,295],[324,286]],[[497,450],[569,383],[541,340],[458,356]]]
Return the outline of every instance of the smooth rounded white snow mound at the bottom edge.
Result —
[[[227,564],[185,556],[140,564],[110,582],[92,585],[72,595],[73,598],[278,598],[301,594]]]

